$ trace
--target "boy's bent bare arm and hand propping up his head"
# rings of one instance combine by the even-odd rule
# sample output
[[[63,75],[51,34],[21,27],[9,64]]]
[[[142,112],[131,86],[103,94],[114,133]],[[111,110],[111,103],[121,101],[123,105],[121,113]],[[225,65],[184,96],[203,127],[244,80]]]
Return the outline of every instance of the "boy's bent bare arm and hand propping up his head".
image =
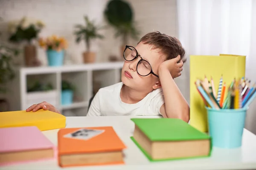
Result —
[[[171,75],[175,67],[182,67],[183,63],[177,63],[179,60],[180,55],[174,59],[164,61],[158,68],[158,76],[165,100],[165,104],[160,108],[160,113],[163,117],[178,118],[189,122],[189,105]]]

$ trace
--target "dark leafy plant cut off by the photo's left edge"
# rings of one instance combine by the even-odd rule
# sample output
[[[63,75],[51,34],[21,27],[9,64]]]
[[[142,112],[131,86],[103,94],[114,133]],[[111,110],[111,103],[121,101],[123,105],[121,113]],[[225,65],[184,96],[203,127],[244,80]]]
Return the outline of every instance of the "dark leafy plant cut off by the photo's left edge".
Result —
[[[2,18],[0,18],[2,20]],[[1,35],[1,32],[0,32]],[[6,83],[15,77],[15,71],[12,68],[13,57],[18,55],[19,51],[9,47],[0,41],[0,93],[6,93]]]

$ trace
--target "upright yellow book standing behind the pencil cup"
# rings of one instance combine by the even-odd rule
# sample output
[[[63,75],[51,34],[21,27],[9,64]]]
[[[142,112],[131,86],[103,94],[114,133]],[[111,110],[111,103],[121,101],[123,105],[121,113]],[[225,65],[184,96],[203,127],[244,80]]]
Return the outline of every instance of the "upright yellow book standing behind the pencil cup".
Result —
[[[223,75],[223,83],[226,82],[227,88],[234,78],[244,77],[245,56],[230,54],[190,56],[190,125],[202,132],[208,132],[207,111],[195,86],[195,81],[204,80],[206,76],[211,82],[212,77],[217,94],[221,75]]]

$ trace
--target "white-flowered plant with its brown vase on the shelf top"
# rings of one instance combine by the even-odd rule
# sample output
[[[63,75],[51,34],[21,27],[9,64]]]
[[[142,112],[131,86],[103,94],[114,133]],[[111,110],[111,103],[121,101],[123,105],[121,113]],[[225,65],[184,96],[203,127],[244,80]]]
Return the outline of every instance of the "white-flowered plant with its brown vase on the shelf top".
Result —
[[[41,20],[27,17],[9,23],[9,41],[15,43],[26,42],[24,46],[26,66],[31,66],[37,62],[36,46],[33,44],[33,40],[38,38],[42,28],[44,28],[44,23]]]

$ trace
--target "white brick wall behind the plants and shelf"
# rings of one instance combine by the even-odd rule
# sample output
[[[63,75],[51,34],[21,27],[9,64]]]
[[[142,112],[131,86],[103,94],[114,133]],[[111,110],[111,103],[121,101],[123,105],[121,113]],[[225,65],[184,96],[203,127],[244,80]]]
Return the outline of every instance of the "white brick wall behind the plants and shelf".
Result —
[[[106,24],[103,11],[107,0],[0,0],[0,31],[3,39],[7,38],[7,22],[23,16],[42,20],[46,28],[40,36],[56,34],[64,36],[69,42],[67,56],[75,62],[82,62],[81,54],[85,50],[84,42],[76,44],[73,35],[74,25],[83,24],[83,16],[88,15],[96,23]],[[134,8],[135,20],[141,29],[141,36],[150,31],[161,31],[177,35],[176,29],[176,0],[128,0]],[[119,55],[120,41],[113,37],[113,28],[102,31],[105,40],[97,40],[92,44],[92,50],[97,52],[97,61],[107,61],[109,55]],[[136,41],[131,41],[136,44]],[[38,57],[46,64],[46,56],[38,48]],[[22,61],[22,57],[20,58]]]

